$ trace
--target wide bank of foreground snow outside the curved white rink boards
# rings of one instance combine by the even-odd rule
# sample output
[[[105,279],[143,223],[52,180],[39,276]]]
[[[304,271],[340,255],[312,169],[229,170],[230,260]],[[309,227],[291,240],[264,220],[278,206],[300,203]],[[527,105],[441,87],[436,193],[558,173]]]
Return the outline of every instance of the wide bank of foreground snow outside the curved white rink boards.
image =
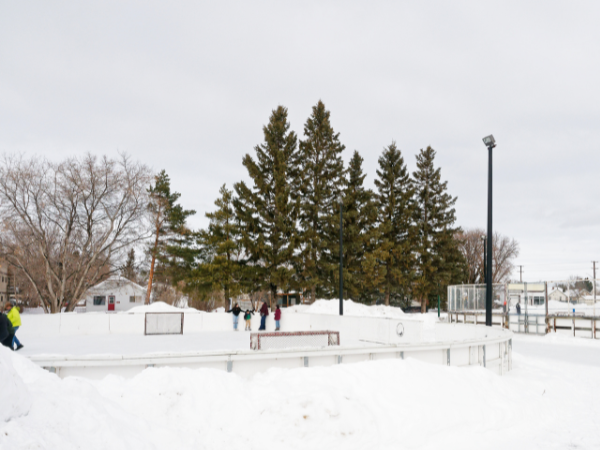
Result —
[[[149,368],[129,380],[61,380],[5,351],[33,404],[0,423],[0,449],[600,447],[600,367],[584,364],[600,342],[523,338],[515,338],[505,376],[407,359],[270,369],[249,379]],[[579,361],[521,354],[526,343],[564,346]]]

